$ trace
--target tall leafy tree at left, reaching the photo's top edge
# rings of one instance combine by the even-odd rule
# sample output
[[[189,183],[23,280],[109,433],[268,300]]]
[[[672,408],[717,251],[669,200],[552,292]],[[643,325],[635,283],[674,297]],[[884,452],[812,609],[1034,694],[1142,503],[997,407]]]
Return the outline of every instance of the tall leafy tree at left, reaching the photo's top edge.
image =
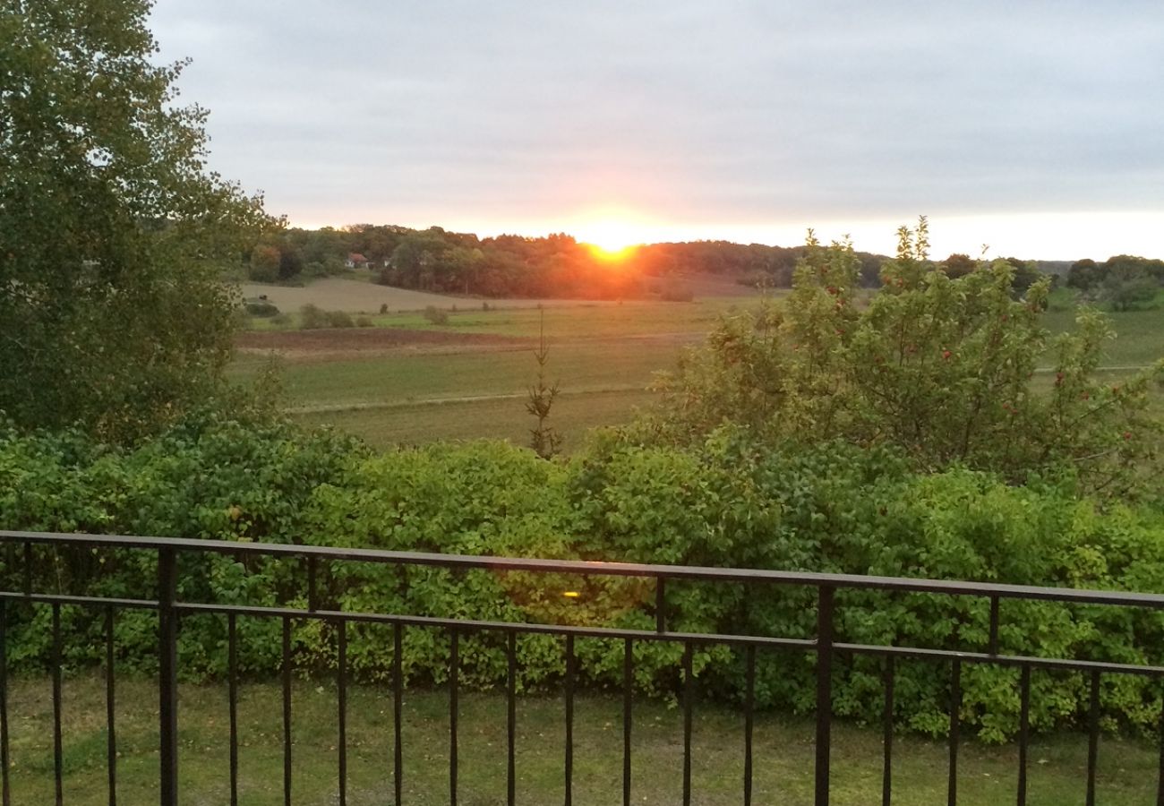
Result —
[[[132,437],[210,391],[268,219],[206,169],[150,0],[0,2],[0,410]]]

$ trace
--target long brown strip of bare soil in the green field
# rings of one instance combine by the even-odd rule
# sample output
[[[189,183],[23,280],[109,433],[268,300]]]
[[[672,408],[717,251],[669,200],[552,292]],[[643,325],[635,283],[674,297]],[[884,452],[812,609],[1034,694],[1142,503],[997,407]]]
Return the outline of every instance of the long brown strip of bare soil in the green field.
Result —
[[[243,331],[242,353],[278,353],[290,360],[359,358],[378,353],[469,353],[527,349],[530,339],[484,333],[448,333],[399,327],[343,327],[307,331]]]

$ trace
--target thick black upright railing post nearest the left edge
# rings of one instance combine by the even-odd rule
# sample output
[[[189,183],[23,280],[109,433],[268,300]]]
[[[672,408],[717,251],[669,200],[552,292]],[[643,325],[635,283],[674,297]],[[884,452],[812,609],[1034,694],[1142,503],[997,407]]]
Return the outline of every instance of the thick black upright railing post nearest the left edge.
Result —
[[[178,574],[173,549],[157,551],[158,720],[161,804],[178,805],[178,618],[173,609]]]

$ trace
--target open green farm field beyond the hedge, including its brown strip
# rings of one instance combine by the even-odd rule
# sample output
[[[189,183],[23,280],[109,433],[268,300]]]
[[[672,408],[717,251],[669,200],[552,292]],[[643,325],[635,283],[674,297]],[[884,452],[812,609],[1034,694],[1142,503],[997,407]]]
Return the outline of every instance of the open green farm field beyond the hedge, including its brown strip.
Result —
[[[693,303],[560,301],[540,310],[485,311],[477,304],[450,312],[445,325],[404,312],[371,316],[372,328],[335,331],[289,328],[293,317],[283,328],[258,319],[239,339],[232,374],[249,379],[275,353],[286,404],[298,418],[334,424],[378,447],[473,437],[524,444],[533,424],[525,396],[537,376],[533,349],[544,327],[547,381],[561,388],[552,424],[570,450],[588,429],[624,423],[648,405],[655,372],[673,368],[682,349],[701,344],[721,316],[753,304],[754,295]],[[1120,334],[1103,361],[1112,377],[1164,356],[1164,313],[1109,316]],[[1056,332],[1073,320],[1071,309],[1046,314]]]

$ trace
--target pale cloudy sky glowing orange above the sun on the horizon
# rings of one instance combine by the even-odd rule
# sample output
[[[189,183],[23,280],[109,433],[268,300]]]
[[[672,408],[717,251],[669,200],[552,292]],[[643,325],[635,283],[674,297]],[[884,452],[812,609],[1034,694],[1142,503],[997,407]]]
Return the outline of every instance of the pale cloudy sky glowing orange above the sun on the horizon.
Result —
[[[157,0],[293,226],[1164,257],[1159,0]]]

